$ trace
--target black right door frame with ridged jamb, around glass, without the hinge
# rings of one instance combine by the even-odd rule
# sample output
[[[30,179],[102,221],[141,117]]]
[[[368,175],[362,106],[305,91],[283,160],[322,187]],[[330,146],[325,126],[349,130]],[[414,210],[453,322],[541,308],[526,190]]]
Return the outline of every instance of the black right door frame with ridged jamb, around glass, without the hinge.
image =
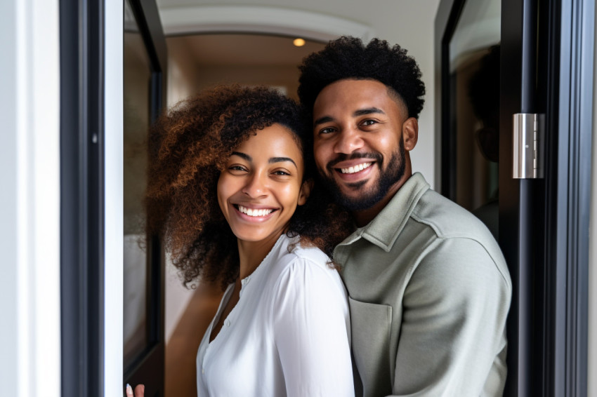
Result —
[[[449,197],[447,45],[464,3],[441,0],[435,19],[436,185]],[[594,4],[502,0],[501,15],[499,243],[513,281],[504,395],[586,396]],[[546,114],[544,180],[511,176],[521,112]]]

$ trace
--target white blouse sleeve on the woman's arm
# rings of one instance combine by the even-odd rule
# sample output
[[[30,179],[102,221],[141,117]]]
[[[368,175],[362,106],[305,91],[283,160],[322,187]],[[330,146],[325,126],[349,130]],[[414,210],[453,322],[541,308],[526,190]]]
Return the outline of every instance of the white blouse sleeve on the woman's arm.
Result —
[[[348,302],[337,272],[295,260],[280,275],[272,310],[287,395],[354,396]]]

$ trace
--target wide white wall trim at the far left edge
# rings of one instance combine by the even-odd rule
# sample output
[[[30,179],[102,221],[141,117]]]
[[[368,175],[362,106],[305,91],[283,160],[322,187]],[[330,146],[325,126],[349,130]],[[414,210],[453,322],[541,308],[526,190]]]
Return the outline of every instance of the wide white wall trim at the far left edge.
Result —
[[[0,15],[0,394],[60,396],[58,0]]]

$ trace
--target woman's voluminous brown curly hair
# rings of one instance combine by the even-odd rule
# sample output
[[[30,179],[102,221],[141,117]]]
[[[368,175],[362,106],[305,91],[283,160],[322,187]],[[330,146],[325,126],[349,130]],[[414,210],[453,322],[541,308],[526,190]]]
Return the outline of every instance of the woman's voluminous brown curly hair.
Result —
[[[179,102],[150,130],[147,233],[159,235],[185,285],[236,280],[237,238],[217,198],[217,184],[232,150],[257,130],[279,123],[288,128],[305,157],[305,180],[315,179],[312,150],[303,142],[311,134],[305,114],[277,91],[219,86]],[[316,186],[296,209],[287,234],[332,256],[350,232],[348,213]]]

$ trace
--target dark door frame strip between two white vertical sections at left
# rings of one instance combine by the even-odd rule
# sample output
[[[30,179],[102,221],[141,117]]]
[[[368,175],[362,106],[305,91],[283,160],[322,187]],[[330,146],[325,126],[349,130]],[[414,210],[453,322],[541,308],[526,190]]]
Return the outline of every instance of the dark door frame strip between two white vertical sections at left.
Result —
[[[59,13],[62,396],[103,396],[104,1]]]

